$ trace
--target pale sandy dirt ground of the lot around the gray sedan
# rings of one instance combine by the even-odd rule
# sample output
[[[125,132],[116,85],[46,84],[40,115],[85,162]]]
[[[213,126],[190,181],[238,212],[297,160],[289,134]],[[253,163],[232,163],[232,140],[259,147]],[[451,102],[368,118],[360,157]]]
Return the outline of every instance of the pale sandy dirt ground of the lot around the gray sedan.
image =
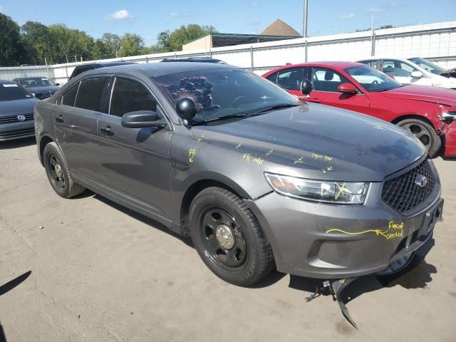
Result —
[[[403,276],[346,290],[356,331],[331,296],[304,301],[306,279],[275,272],[254,289],[226,284],[189,239],[91,192],[58,197],[33,140],[1,144],[6,340],[455,341],[456,162],[436,165],[446,202],[435,246]]]

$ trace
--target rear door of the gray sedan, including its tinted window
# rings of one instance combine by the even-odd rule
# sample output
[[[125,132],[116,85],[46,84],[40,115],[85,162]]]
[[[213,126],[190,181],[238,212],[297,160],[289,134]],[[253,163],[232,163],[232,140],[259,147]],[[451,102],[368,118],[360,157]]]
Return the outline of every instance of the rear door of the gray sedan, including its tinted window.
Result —
[[[90,76],[69,88],[53,113],[56,139],[71,173],[81,180],[93,180],[97,145],[97,120],[101,99],[110,76]]]

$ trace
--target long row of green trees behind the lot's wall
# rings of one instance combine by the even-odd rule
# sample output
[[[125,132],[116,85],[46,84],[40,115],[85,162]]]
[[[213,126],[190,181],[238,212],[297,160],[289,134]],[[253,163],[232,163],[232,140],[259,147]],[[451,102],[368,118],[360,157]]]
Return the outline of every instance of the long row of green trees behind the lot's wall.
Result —
[[[93,39],[86,32],[63,24],[46,26],[27,21],[19,27],[9,16],[0,14],[0,65],[68,63],[81,58],[88,61],[180,51],[183,44],[215,32],[212,26],[182,25],[174,31],[160,32],[155,46],[149,48],[135,33],[104,33]]]

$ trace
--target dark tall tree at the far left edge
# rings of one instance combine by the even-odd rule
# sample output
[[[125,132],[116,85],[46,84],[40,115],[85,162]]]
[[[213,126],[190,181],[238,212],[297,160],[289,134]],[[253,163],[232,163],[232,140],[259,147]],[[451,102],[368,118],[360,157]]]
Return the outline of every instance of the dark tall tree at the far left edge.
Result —
[[[24,47],[19,39],[19,25],[0,13],[0,63],[11,63],[24,58]]]

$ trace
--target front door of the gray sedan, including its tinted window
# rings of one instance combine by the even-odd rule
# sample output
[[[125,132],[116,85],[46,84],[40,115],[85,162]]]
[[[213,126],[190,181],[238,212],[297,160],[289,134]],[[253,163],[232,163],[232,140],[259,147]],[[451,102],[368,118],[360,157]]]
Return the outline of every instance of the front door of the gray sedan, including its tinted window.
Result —
[[[165,112],[142,81],[117,76],[110,90],[107,113],[98,119],[98,174],[104,190],[148,212],[169,217],[170,121],[165,128],[125,128],[125,113],[136,110]]]

